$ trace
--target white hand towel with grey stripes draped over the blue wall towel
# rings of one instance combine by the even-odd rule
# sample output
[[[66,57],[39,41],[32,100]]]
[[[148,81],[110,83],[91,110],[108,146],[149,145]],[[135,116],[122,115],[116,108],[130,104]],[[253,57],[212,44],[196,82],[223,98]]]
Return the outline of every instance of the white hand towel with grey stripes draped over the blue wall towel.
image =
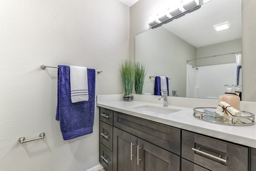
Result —
[[[87,67],[70,66],[71,101],[88,101]]]

